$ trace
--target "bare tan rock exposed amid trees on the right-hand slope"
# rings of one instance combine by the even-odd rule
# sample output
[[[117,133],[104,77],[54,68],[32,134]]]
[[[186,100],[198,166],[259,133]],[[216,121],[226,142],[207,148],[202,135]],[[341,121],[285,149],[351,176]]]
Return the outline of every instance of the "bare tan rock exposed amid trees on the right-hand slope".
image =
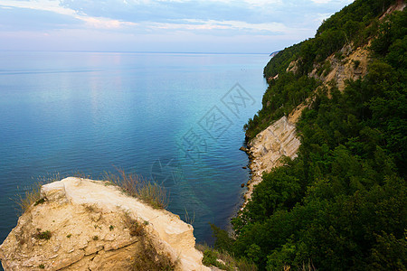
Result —
[[[367,46],[353,49],[352,46],[346,44],[338,54],[333,54],[327,58],[329,62],[329,70],[327,73],[318,75],[317,70],[320,67],[315,67],[308,76],[316,78],[322,82],[322,86],[328,89],[336,86],[339,90],[345,89],[346,80],[355,80],[364,77],[367,73],[367,66],[370,60]],[[292,61],[287,69],[291,72],[297,72],[297,62]],[[274,79],[278,79],[276,75]],[[320,88],[320,87],[319,87]],[[316,89],[317,90],[317,89]],[[272,123],[269,127],[261,131],[255,138],[248,143],[247,153],[251,158],[251,180],[248,182],[248,191],[244,194],[244,205],[251,199],[251,194],[257,184],[262,181],[263,173],[270,173],[271,169],[280,166],[280,158],[289,156],[295,158],[297,156],[300,141],[296,133],[295,124],[301,116],[302,111],[308,107],[312,98],[308,98],[304,103],[295,108],[289,117],[281,117],[279,120]]]

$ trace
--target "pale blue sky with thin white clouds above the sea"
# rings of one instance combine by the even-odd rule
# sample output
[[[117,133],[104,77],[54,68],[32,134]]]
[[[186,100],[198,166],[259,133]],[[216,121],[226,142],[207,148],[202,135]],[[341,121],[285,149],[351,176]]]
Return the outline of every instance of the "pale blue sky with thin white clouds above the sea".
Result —
[[[270,53],[353,0],[0,0],[0,51]]]

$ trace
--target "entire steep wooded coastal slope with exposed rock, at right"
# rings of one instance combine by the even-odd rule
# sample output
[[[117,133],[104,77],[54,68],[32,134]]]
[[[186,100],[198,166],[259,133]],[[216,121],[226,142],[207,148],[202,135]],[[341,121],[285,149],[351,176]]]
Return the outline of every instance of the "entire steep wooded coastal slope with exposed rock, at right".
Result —
[[[406,268],[406,36],[404,1],[356,0],[273,57],[245,126],[261,182],[215,246],[260,270]]]

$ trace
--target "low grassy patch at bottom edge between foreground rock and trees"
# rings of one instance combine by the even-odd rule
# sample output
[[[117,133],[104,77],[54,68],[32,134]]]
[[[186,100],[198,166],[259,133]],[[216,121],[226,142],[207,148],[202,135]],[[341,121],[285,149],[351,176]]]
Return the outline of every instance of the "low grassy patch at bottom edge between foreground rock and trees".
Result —
[[[207,245],[196,244],[196,249],[204,253],[204,258],[202,263],[205,266],[216,266],[223,270],[241,270],[241,271],[255,271],[257,266],[248,261],[246,258],[236,258],[233,255],[225,252],[218,251],[216,249],[210,248]]]

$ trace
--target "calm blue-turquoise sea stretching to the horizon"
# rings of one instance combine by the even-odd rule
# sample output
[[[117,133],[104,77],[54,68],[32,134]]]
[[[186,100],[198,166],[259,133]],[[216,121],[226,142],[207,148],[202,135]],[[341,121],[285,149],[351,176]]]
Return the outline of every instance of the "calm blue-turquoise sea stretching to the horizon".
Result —
[[[13,199],[43,176],[121,168],[166,186],[168,209],[222,228],[249,178],[242,126],[268,55],[0,52],[0,243]]]

